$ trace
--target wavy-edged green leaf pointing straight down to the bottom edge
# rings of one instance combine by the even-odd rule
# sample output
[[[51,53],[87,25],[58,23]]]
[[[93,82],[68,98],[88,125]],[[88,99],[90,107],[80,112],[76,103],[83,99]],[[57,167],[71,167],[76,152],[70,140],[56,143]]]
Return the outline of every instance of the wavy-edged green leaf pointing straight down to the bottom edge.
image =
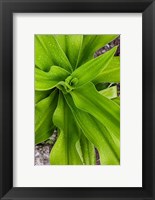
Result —
[[[53,122],[59,128],[60,135],[50,153],[51,165],[82,165],[76,149],[76,142],[80,137],[79,128],[61,93]]]

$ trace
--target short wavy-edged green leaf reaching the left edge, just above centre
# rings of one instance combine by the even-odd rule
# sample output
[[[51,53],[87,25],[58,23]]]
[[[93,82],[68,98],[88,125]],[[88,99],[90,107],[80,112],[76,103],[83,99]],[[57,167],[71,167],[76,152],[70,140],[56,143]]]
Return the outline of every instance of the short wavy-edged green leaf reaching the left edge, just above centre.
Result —
[[[50,90],[67,78],[69,72],[58,66],[52,66],[49,72],[35,69],[35,90]]]

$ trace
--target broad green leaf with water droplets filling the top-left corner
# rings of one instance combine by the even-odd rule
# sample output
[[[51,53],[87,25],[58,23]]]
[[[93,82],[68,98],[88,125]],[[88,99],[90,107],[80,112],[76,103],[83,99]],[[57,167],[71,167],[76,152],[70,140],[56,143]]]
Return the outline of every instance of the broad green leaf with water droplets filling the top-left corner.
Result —
[[[35,35],[35,64],[43,71],[52,65],[71,72],[71,64],[54,35]]]

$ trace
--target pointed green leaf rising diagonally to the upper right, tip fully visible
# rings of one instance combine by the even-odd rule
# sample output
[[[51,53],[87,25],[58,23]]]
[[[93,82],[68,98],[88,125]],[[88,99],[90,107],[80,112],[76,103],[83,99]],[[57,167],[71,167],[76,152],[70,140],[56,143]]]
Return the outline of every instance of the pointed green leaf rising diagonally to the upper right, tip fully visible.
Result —
[[[72,74],[72,79],[78,79],[76,87],[79,87],[87,82],[93,80],[106,66],[109,64],[110,60],[113,58],[117,47],[114,47],[105,54],[92,59],[91,61],[83,64],[77,68]]]

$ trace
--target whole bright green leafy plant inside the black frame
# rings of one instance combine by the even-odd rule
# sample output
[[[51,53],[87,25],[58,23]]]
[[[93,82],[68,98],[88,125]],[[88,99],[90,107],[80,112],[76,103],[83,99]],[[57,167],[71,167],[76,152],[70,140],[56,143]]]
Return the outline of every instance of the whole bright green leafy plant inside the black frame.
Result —
[[[52,165],[120,163],[117,47],[94,53],[118,35],[35,35],[35,142],[58,130]],[[100,88],[100,89],[99,89]],[[103,89],[104,88],[104,89]]]

